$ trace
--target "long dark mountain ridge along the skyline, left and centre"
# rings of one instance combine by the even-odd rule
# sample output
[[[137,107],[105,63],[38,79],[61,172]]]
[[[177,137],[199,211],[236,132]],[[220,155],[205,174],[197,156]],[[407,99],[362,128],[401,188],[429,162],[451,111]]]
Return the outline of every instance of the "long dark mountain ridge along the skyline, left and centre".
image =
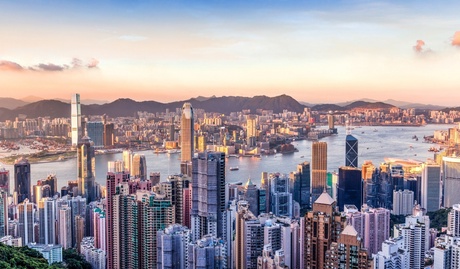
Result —
[[[199,101],[196,98],[189,100],[160,103],[156,101],[137,102],[132,99],[118,99],[107,104],[81,105],[83,115],[103,115],[107,114],[111,117],[136,116],[137,111],[146,111],[150,113],[164,112],[166,109],[175,110],[181,108],[185,102],[190,102],[195,109],[204,109],[208,112],[218,112],[228,114],[237,112],[243,109],[252,109],[255,113],[255,108],[273,110],[275,113],[280,113],[284,109],[302,112],[305,106],[287,95],[276,97],[254,96],[223,96],[209,98],[204,101]],[[70,104],[59,100],[41,100],[35,103],[27,104],[16,109],[0,108],[0,120],[12,120],[19,114],[26,115],[28,118],[37,118],[49,116],[51,118],[69,117]]]

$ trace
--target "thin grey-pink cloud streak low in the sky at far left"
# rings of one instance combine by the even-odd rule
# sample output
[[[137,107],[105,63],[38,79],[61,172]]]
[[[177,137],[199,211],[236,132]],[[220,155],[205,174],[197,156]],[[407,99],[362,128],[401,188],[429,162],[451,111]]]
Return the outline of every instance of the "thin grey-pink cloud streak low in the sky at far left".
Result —
[[[98,68],[99,61],[92,58],[88,62],[83,62],[78,58],[73,58],[70,64],[39,63],[32,66],[22,66],[18,63],[0,60],[0,71],[38,71],[38,72],[62,72],[73,69],[95,69]]]

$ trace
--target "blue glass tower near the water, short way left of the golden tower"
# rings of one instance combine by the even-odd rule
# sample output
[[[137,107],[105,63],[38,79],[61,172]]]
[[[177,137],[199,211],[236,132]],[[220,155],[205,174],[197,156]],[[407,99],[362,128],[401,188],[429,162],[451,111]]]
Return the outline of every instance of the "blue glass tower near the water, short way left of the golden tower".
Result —
[[[289,192],[289,178],[284,174],[270,174],[271,212],[276,216],[292,216],[292,194]]]

